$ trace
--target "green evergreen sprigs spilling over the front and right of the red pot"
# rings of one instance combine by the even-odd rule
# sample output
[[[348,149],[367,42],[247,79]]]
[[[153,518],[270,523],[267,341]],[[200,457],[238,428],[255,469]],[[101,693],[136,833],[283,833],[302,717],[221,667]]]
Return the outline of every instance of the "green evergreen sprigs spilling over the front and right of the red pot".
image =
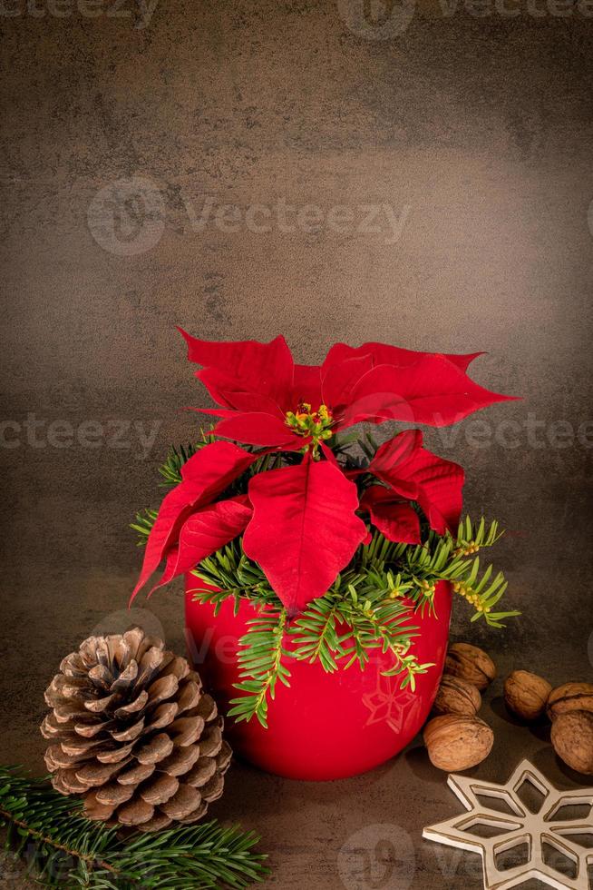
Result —
[[[402,687],[415,687],[415,678],[432,664],[420,664],[413,653],[418,628],[414,615],[434,612],[439,581],[448,581],[476,614],[491,627],[502,627],[504,618],[518,612],[494,612],[507,582],[501,572],[488,566],[481,572],[479,550],[492,547],[501,532],[498,523],[475,525],[464,519],[456,536],[428,531],[423,544],[390,541],[375,531],[361,545],[350,565],[335,579],[326,595],[311,602],[302,614],[287,622],[282,603],[267,578],[246,556],[242,539],[231,541],[193,574],[210,588],[197,583],[191,591],[199,602],[214,604],[215,612],[232,598],[235,613],[242,600],[255,608],[248,632],[240,640],[242,697],[233,699],[230,714],[238,720],[258,717],[267,725],[267,699],[277,682],[290,685],[290,659],[315,663],[327,672],[347,669],[355,663],[364,668],[377,650],[390,653],[392,666],[385,676],[401,676]],[[470,557],[468,559],[468,557]]]

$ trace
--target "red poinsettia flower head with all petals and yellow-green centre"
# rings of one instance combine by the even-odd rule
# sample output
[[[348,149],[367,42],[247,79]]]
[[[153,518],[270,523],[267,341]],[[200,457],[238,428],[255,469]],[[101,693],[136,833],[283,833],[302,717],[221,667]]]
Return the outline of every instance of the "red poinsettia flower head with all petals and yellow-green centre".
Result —
[[[262,450],[215,441],[182,468],[148,539],[141,578],[161,561],[160,584],[243,534],[290,615],[323,596],[369,538],[363,517],[386,538],[418,543],[420,518],[453,529],[462,509],[463,470],[423,448],[420,430],[384,442],[363,470],[345,470],[331,450],[336,432],[362,420],[443,426],[511,397],[467,376],[481,353],[442,355],[382,343],[338,343],[320,366],[295,364],[283,337],[269,343],[216,343],[181,331],[197,377],[219,407],[215,434]],[[221,495],[262,453],[300,451],[290,466],[254,474],[247,495]],[[356,481],[365,475],[359,499]],[[371,484],[367,484],[370,477]]]

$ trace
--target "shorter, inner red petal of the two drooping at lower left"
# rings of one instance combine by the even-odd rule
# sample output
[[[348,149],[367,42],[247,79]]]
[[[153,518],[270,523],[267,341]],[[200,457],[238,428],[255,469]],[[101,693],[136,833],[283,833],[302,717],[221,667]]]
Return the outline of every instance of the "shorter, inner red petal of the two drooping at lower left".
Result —
[[[172,578],[195,569],[202,559],[237,538],[246,529],[252,513],[246,495],[219,500],[192,513],[181,527],[179,543],[170,549],[165,570],[151,593]]]

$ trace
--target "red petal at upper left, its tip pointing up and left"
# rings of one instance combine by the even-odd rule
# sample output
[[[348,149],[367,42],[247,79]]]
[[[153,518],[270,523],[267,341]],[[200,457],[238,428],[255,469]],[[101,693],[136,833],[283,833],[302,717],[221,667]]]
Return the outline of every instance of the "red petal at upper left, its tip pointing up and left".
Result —
[[[254,340],[219,343],[198,340],[181,328],[178,330],[188,344],[190,361],[204,368],[216,368],[226,377],[241,381],[246,390],[263,392],[280,404],[286,401],[292,387],[294,363],[284,337],[269,343]]]

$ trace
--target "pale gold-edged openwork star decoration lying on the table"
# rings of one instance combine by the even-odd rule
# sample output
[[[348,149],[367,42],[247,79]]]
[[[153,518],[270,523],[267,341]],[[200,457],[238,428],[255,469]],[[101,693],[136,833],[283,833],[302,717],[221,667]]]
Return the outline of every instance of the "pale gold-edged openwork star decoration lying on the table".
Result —
[[[588,890],[588,865],[593,864],[593,848],[580,841],[584,837],[588,837],[589,843],[593,840],[593,788],[559,791],[528,760],[517,766],[506,785],[494,785],[470,776],[449,776],[448,782],[470,812],[424,828],[423,837],[480,853],[485,890],[506,890],[530,878],[558,890]],[[543,795],[537,813],[531,812],[518,796],[525,782]],[[507,812],[485,806],[482,803],[484,797],[503,801]],[[588,806],[587,815],[562,819],[560,810],[566,806]],[[475,829],[478,826],[491,836],[477,835]],[[510,868],[497,865],[499,855],[525,845],[528,852],[523,864]],[[570,860],[573,865],[571,876],[544,862],[544,845]]]

